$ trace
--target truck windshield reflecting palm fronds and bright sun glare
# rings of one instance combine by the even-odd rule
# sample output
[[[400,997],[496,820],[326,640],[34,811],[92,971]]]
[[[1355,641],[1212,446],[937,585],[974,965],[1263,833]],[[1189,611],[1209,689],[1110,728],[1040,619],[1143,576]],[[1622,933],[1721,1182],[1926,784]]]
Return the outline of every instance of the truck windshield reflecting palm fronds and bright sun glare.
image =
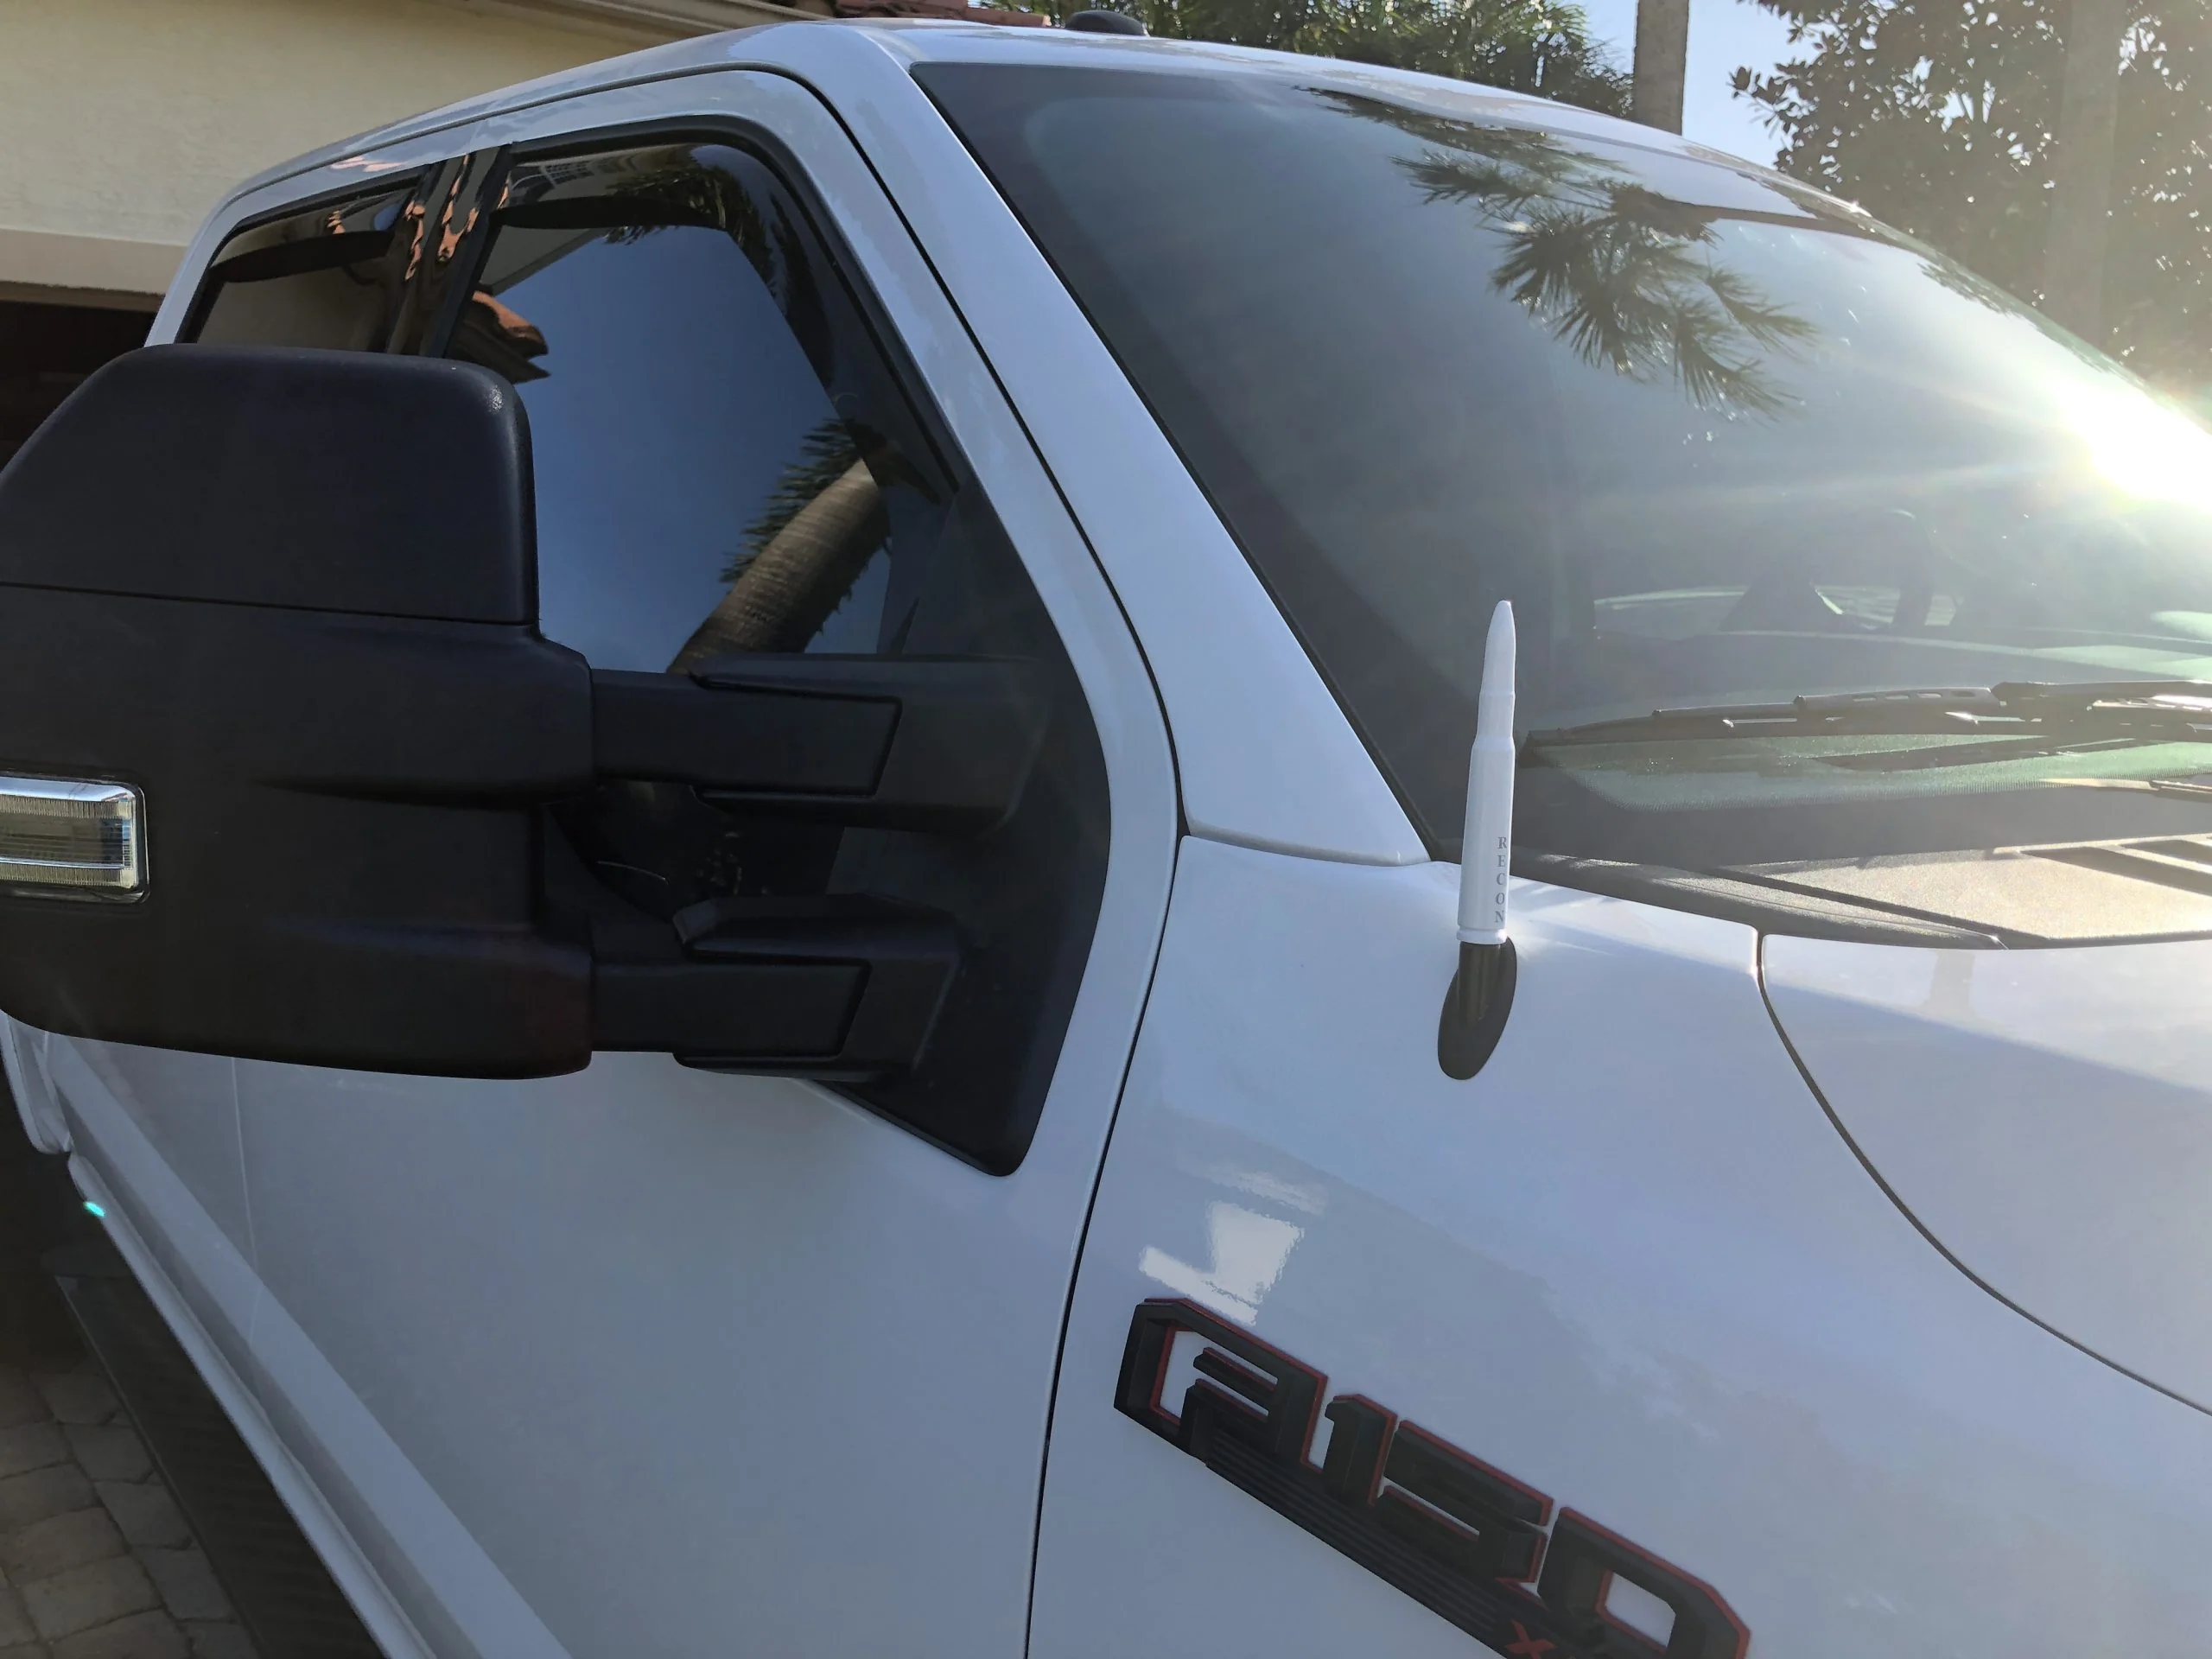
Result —
[[[1491,606],[1520,723],[2212,679],[2212,436],[1776,175],[1292,71],[925,64],[1451,852]],[[1376,88],[1387,88],[1387,97]],[[1978,745],[1958,763],[1931,748]],[[2192,741],[1531,743],[1520,834],[1666,863],[2212,830]],[[1896,752],[1887,763],[1880,757]]]

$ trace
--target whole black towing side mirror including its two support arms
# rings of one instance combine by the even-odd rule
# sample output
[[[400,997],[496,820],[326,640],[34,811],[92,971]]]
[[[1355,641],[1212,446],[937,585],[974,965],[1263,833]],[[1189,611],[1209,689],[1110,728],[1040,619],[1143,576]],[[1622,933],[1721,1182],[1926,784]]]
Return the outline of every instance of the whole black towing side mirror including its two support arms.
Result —
[[[369,1071],[911,1068],[953,918],[606,925],[549,891],[546,810],[664,779],[973,834],[1042,739],[1024,664],[593,675],[538,635],[531,500],[522,407],[480,367],[153,347],[86,380],[0,471],[0,1009]]]

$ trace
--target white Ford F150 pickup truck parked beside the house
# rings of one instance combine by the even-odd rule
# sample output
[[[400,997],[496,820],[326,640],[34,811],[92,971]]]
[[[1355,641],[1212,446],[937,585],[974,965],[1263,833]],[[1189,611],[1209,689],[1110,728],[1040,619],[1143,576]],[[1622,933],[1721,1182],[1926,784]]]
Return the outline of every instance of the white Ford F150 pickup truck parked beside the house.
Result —
[[[394,1659],[2212,1641],[2212,438],[2081,343],[960,22],[310,155],[153,338],[0,473],[7,1073]]]

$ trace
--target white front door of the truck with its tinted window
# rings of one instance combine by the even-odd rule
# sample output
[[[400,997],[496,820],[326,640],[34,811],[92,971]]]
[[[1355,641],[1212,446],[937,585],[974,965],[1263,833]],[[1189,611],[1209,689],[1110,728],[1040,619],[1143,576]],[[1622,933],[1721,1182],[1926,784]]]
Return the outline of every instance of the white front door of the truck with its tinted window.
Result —
[[[1166,909],[1157,701],[810,93],[690,77],[465,137],[442,199],[392,219],[429,257],[380,343],[520,392],[549,639],[633,672],[1020,655],[1066,695],[1013,816],[953,849],[661,783],[553,814],[549,865],[646,916],[821,891],[960,911],[982,967],[927,1091],[659,1053],[540,1082],[239,1062],[252,1383],[436,1652],[1011,1659],[1060,1323]],[[372,173],[436,144],[467,148]],[[358,190],[347,166],[316,184]],[[241,288],[299,259],[257,257]],[[188,332],[228,303],[215,272]],[[204,1064],[155,1057],[142,1086]]]

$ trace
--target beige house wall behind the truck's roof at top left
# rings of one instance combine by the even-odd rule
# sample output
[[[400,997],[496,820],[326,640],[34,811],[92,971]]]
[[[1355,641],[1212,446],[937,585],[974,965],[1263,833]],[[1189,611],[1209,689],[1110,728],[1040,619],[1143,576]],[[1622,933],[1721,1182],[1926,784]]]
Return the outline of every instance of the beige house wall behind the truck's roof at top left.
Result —
[[[827,7],[825,7],[827,9]],[[759,0],[0,0],[0,299],[159,294],[239,179]]]

